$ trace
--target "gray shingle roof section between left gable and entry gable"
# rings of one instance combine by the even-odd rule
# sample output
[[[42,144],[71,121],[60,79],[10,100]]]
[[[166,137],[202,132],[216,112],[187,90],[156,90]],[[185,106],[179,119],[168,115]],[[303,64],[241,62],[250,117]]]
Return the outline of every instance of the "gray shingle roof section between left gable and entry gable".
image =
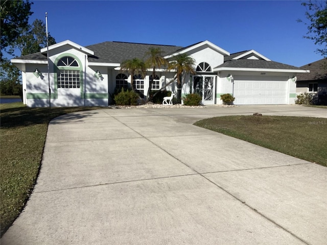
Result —
[[[168,55],[179,50],[180,46],[156,45],[131,42],[102,42],[86,46],[94,51],[95,57],[89,57],[89,62],[121,63],[124,60],[139,58],[143,59],[150,47],[158,47],[164,52],[162,55]]]

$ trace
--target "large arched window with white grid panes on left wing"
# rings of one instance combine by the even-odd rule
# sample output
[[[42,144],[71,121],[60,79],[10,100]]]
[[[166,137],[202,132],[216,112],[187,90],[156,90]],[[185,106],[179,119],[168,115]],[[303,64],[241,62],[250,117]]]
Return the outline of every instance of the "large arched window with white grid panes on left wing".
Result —
[[[80,88],[79,64],[73,57],[65,56],[57,62],[57,88]]]

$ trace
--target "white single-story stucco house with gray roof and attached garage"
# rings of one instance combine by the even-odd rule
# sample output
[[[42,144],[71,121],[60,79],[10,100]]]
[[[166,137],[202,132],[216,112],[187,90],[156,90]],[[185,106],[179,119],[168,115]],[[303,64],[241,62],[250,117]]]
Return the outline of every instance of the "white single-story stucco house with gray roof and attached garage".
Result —
[[[254,50],[235,54],[209,41],[187,47],[129,42],[103,42],[81,46],[63,41],[39,53],[11,62],[22,71],[23,102],[29,107],[108,106],[115,88],[130,86],[130,76],[120,68],[127,59],[144,58],[150,47],[159,47],[174,60],[186,53],[196,61],[197,74],[184,74],[182,96],[199,93],[204,105],[222,104],[220,95],[232,94],[236,105],[294,104],[296,75],[309,72],[271,61]],[[152,89],[160,89],[175,76],[174,70],[157,69]],[[135,89],[147,94],[150,76],[134,76]],[[175,91],[172,83],[167,89]]]

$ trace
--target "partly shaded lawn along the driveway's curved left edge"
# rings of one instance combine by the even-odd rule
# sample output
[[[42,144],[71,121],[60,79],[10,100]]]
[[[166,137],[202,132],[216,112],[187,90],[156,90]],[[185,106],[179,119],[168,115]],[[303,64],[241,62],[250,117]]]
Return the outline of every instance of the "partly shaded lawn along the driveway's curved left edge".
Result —
[[[26,204],[35,184],[49,121],[59,115],[100,107],[28,108],[0,104],[1,236]]]

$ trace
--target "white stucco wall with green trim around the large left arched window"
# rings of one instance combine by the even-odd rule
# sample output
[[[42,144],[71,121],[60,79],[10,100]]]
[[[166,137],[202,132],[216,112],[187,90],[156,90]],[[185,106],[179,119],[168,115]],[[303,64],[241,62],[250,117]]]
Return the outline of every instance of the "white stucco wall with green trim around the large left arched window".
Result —
[[[59,53],[57,53],[59,51]],[[65,45],[49,52],[50,62],[50,88],[49,99],[48,66],[44,64],[26,64],[26,97],[29,107],[63,107],[63,106],[108,106],[108,75],[107,68],[103,66],[87,66],[87,56]],[[79,67],[64,67],[63,69],[79,70],[80,88],[58,88],[57,62],[65,56],[75,58]],[[36,78],[33,74],[35,68],[41,71],[43,78]],[[100,71],[102,78],[95,73]],[[24,78],[23,78],[24,79]]]

